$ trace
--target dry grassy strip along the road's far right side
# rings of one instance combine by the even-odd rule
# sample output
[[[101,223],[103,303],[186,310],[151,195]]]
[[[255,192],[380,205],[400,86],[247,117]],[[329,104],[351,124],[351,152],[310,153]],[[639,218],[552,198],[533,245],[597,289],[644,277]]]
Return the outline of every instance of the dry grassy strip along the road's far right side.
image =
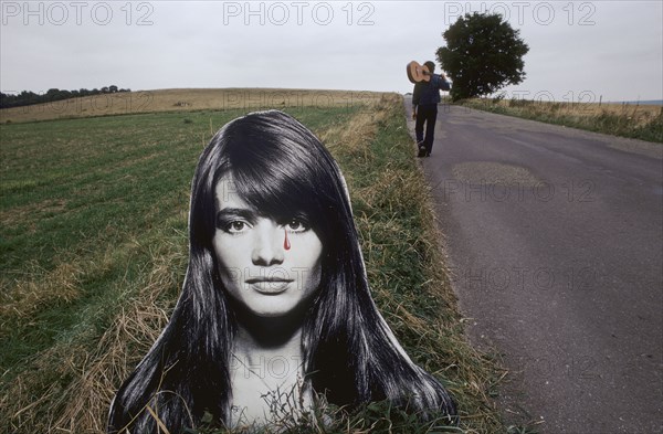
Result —
[[[663,107],[635,104],[551,103],[474,98],[460,104],[589,131],[663,142]]]

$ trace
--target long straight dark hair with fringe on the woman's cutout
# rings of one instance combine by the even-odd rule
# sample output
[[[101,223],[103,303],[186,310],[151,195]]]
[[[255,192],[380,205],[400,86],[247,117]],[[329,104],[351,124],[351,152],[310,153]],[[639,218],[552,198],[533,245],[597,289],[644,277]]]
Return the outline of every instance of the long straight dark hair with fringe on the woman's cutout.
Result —
[[[236,322],[218,273],[214,189],[230,174],[240,198],[266,215],[302,210],[323,244],[322,278],[302,330],[306,384],[349,409],[390,400],[455,415],[452,399],[413,364],[370,296],[347,189],[320,141],[277,110],[227,124],[202,152],[191,186],[189,265],[170,320],[110,405],[108,432],[171,433],[202,416],[229,420]]]

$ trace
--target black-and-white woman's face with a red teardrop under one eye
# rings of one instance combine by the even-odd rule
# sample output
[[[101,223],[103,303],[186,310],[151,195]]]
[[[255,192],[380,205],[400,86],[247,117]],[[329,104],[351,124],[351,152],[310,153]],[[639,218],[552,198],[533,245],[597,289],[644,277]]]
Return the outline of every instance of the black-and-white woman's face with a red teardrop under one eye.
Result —
[[[319,286],[323,252],[308,222],[297,215],[283,221],[260,215],[238,195],[230,177],[219,181],[215,198],[212,243],[230,296],[261,317],[303,307]]]

